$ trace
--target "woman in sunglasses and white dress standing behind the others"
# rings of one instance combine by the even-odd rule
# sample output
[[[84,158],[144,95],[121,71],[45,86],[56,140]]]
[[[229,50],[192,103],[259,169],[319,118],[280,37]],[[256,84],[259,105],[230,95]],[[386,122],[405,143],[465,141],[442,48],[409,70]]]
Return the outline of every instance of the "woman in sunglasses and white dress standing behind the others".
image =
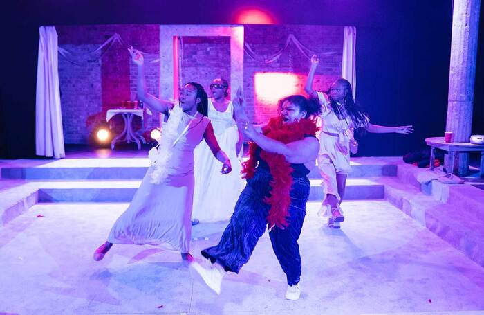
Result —
[[[217,222],[229,219],[245,181],[239,161],[243,136],[237,129],[234,106],[227,100],[228,83],[215,79],[210,84],[212,98],[208,100],[208,118],[221,150],[232,161],[232,172],[222,176],[221,163],[212,157],[210,147],[200,143],[195,149],[195,190],[192,221]]]

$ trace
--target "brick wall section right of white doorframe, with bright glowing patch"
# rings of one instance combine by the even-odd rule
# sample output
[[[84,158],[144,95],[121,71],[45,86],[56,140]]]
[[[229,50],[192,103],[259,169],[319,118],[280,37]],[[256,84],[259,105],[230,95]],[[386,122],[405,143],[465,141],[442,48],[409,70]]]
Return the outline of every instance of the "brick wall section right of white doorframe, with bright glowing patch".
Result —
[[[342,26],[245,26],[244,40],[250,44],[258,57],[254,60],[247,53],[244,55],[243,89],[251,118],[255,123],[266,123],[268,118],[277,114],[277,99],[267,100],[264,95],[257,95],[254,87],[256,73],[262,73],[262,76],[263,73],[287,73],[291,80],[279,80],[278,76],[275,76],[275,82],[272,80],[274,94],[281,97],[291,93],[305,95],[304,84],[310,61],[295,44],[289,44],[279,60],[266,64],[266,60],[284,47],[290,34],[295,35],[302,45],[319,55],[320,62],[314,80],[315,89],[326,90],[331,82],[341,76],[344,35]],[[271,93],[270,90],[262,92]]]

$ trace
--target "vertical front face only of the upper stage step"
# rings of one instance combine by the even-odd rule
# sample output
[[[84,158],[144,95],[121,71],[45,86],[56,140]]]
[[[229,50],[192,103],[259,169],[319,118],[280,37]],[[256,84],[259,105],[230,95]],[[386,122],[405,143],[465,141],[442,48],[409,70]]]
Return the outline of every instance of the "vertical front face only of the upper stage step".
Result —
[[[37,181],[73,181],[73,180],[117,180],[142,179],[145,176],[145,167],[122,168],[2,168],[3,179],[27,179]],[[354,165],[348,177],[380,177],[396,176],[396,165]],[[321,178],[319,170],[314,168],[308,175],[310,179]]]

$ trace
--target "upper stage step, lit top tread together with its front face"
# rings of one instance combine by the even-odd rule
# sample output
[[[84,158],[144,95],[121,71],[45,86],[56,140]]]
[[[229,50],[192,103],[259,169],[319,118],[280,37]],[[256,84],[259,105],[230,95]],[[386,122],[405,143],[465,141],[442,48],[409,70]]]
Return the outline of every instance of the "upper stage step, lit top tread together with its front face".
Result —
[[[396,176],[398,159],[355,158],[348,177]],[[149,167],[148,159],[62,159],[58,161],[32,160],[2,165],[2,179],[50,180],[118,180],[142,179]],[[317,168],[309,176],[321,178]]]

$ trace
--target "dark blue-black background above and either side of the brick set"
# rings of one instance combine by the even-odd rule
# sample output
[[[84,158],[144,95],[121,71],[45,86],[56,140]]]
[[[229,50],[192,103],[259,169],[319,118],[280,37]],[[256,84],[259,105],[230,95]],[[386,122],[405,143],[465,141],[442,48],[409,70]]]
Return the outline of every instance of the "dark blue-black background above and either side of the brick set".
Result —
[[[366,134],[362,156],[402,155],[443,136],[452,0],[10,1],[1,12],[0,158],[35,156],[38,27],[77,24],[232,24],[258,7],[278,24],[357,27],[357,100],[378,125],[410,136]],[[481,7],[480,37],[482,39]],[[478,44],[473,134],[484,134],[484,48]]]

